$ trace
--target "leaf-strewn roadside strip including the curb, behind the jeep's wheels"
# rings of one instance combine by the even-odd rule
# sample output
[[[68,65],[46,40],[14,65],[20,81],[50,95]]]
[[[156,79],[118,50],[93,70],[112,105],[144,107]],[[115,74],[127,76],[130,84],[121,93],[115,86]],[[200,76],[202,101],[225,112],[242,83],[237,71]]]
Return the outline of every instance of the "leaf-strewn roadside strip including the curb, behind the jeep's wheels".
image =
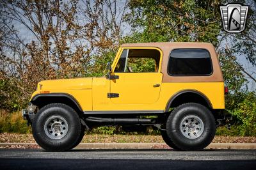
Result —
[[[161,135],[84,135],[80,148],[148,148],[148,149],[170,149]],[[36,144],[31,134],[0,134],[0,148],[36,149]],[[209,149],[255,149],[256,137],[240,136],[216,136],[208,147]]]

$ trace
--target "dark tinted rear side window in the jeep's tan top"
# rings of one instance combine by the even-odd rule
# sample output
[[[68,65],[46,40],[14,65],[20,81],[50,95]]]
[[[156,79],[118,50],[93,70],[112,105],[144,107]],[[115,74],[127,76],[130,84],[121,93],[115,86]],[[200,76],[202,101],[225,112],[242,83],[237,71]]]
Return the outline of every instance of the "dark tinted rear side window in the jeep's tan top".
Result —
[[[212,62],[208,50],[174,49],[170,53],[168,74],[211,75]]]

